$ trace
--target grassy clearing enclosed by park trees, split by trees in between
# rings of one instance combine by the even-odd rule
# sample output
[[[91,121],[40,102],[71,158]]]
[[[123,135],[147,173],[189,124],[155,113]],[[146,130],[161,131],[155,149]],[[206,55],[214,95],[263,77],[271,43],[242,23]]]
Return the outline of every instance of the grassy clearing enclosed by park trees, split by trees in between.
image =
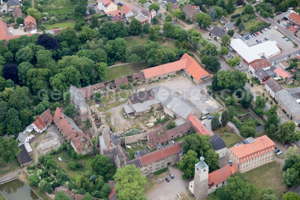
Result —
[[[143,38],[141,36],[125,38],[125,41],[127,42],[127,48],[137,46],[140,44],[146,45],[148,42],[148,36],[144,36]],[[166,52],[177,49],[177,47],[174,44],[174,41],[169,38],[165,39],[165,43],[163,41],[163,38],[158,38],[158,43],[161,45],[161,48]]]

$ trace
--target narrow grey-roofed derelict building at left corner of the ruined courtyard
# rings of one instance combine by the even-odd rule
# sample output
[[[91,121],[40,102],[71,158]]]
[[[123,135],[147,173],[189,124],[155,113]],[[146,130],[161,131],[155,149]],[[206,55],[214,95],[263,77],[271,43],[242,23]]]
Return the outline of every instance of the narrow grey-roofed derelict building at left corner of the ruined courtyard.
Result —
[[[69,92],[71,93],[71,103],[75,105],[77,113],[80,115],[81,120],[85,121],[88,115],[88,105],[83,98],[81,89],[70,86]]]

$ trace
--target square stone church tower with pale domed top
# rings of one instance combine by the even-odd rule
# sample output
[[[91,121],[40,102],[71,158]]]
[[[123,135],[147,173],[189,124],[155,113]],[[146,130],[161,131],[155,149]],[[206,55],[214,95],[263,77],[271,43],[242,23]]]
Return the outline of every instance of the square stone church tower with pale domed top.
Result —
[[[202,199],[208,195],[208,165],[204,162],[204,157],[195,164],[194,180],[189,183],[190,191],[197,199]]]

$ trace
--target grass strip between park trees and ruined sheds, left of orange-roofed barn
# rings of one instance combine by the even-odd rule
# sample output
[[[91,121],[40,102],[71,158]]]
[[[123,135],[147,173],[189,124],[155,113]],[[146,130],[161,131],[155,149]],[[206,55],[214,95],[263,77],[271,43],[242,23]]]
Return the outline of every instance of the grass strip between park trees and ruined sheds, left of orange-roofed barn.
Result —
[[[119,78],[122,76],[129,76],[133,73],[138,73],[143,69],[148,68],[146,62],[137,63],[136,66],[134,64],[131,65],[120,65],[106,69],[106,77],[103,82],[113,80],[115,78]]]

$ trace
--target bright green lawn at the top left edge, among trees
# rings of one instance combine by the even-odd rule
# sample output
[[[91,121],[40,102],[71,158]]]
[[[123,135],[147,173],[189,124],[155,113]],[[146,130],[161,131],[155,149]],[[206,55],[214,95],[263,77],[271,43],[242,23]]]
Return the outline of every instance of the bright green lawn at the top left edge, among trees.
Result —
[[[42,7],[43,12],[47,12],[49,15],[52,13],[62,15],[66,12],[72,12],[73,5],[69,0],[44,0]]]

